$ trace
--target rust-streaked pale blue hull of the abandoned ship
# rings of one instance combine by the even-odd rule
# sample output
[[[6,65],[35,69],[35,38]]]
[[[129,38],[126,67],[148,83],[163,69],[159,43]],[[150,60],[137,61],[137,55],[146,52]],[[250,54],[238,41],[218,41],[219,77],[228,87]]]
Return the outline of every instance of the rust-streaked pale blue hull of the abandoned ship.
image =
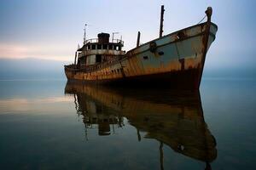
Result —
[[[218,31],[218,26],[211,22],[212,8],[208,8],[206,13],[207,22],[142,45],[137,42],[137,48],[124,54],[108,49],[85,50],[84,55],[119,53],[119,57],[84,68],[65,65],[67,79],[122,86],[198,89],[207,51]]]

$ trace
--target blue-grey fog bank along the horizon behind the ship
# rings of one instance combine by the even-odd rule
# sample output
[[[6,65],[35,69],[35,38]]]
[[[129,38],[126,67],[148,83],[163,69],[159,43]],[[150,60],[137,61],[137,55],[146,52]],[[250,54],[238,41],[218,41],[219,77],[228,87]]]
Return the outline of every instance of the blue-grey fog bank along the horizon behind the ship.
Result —
[[[49,59],[0,59],[0,80],[15,79],[61,79],[66,80],[64,65],[72,61]],[[236,66],[233,68],[211,68],[206,61],[204,78],[238,78],[254,79],[256,69],[253,67]]]

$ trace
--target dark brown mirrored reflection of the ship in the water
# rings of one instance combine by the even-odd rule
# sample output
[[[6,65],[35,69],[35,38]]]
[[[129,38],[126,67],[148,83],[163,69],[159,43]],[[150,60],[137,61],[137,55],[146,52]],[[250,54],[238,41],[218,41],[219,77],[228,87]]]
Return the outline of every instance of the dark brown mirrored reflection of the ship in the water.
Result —
[[[111,135],[115,128],[125,126],[126,118],[137,128],[138,141],[159,141],[161,169],[164,144],[206,162],[205,169],[211,169],[210,162],[217,157],[216,140],[207,128],[198,92],[122,90],[67,82],[65,94],[73,95],[75,109],[83,116],[86,139],[90,128],[98,128],[98,135]],[[142,132],[146,135],[141,136]]]

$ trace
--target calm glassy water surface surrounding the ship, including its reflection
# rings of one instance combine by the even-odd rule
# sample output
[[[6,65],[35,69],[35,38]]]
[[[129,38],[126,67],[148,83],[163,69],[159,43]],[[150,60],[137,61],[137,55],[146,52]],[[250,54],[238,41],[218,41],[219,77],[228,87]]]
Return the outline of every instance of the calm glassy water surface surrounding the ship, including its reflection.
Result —
[[[256,81],[200,93],[0,81],[0,169],[253,169]]]

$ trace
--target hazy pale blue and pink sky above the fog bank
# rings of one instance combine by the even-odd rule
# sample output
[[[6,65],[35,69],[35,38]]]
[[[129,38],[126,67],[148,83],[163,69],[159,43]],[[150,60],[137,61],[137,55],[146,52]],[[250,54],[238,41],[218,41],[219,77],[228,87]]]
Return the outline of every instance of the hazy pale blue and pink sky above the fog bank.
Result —
[[[0,0],[0,58],[73,60],[88,37],[119,31],[125,50],[158,37],[160,5],[166,8],[164,34],[198,23],[207,6],[218,25],[207,67],[255,67],[256,14],[254,0]]]

